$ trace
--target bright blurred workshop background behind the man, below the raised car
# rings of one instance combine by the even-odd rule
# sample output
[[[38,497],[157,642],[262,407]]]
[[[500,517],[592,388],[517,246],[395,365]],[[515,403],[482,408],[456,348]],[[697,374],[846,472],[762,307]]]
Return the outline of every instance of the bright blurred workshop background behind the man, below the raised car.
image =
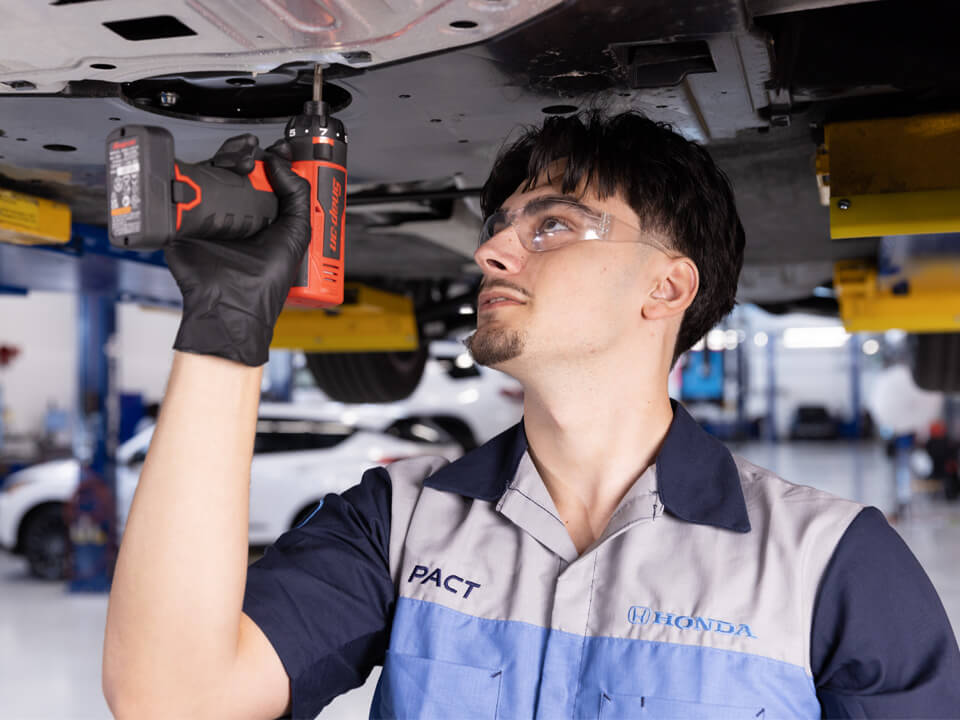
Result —
[[[8,717],[109,716],[99,683],[102,591],[179,321],[168,309],[116,306],[106,389],[119,409],[114,503],[81,469],[95,454],[97,420],[78,408],[91,402],[76,372],[78,306],[66,293],[0,296],[0,685],[8,699],[22,698]],[[851,334],[835,318],[741,305],[683,356],[670,390],[734,452],[880,508],[956,628],[960,398],[917,386],[912,341],[899,330]],[[333,400],[317,386],[309,353],[272,351],[252,467],[251,560],[364,469],[418,454],[459,457],[517,422],[522,401],[519,384],[476,366],[458,337],[433,341],[414,391],[390,403]],[[16,678],[41,669],[60,683],[42,698],[17,690]],[[375,680],[323,714],[365,717]]]

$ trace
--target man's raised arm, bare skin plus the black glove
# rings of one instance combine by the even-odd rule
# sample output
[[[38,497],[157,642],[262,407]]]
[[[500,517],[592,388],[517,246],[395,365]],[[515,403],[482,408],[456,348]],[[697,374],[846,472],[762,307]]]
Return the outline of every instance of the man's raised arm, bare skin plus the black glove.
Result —
[[[277,653],[241,611],[261,366],[310,231],[309,185],[277,152],[273,224],[166,250],[180,352],[110,594],[103,688],[120,718],[272,718],[290,702]]]

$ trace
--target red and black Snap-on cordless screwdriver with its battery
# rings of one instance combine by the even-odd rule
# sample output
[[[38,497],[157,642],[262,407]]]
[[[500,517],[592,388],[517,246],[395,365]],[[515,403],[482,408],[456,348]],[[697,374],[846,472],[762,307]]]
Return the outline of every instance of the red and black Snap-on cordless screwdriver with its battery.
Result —
[[[292,169],[310,183],[310,248],[288,306],[325,308],[343,302],[347,133],[321,99],[321,70],[313,99],[287,122],[284,139]],[[242,240],[277,217],[277,197],[256,148],[253,171],[239,175],[213,161],[177,160],[164,128],[126,125],[107,137],[107,203],[112,245],[156,250],[177,237]]]

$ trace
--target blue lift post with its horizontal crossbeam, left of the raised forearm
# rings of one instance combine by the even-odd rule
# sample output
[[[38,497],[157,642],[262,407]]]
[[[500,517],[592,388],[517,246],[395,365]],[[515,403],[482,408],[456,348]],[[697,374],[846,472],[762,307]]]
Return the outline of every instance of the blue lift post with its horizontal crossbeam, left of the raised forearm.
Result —
[[[110,345],[116,302],[177,307],[180,292],[163,253],[118,250],[106,228],[74,223],[67,245],[0,243],[0,290],[73,293],[77,305],[78,397],[74,454],[80,486],[67,510],[72,591],[106,591],[116,557],[114,454],[119,403]]]

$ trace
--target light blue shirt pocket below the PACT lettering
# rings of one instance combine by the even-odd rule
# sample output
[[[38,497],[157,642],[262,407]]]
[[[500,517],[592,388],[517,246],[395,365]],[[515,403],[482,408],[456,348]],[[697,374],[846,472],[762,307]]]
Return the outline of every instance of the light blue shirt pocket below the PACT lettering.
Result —
[[[388,650],[380,675],[378,707],[371,716],[491,720],[497,716],[502,676],[496,668],[458,665]]]

